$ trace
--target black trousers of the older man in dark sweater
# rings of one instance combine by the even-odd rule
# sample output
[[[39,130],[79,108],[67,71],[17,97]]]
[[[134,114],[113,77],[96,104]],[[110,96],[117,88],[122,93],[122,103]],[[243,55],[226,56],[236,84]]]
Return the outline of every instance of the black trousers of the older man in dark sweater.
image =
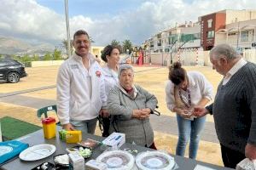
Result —
[[[220,144],[220,147],[222,161],[224,162],[225,167],[231,167],[235,169],[236,164],[238,164],[241,160],[246,158],[245,155],[242,154],[241,152],[231,150],[230,148],[225,147],[223,144]]]

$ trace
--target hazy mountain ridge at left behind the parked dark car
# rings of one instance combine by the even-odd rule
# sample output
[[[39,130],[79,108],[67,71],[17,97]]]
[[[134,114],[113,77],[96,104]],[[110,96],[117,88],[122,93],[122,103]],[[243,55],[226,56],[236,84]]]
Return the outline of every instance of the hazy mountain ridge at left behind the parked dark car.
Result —
[[[54,49],[49,43],[32,45],[15,38],[0,37],[0,54],[46,54]]]

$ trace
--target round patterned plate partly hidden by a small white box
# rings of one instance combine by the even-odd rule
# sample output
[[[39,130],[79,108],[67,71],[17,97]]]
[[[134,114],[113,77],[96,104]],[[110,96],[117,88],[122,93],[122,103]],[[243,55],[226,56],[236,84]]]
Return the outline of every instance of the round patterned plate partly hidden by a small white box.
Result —
[[[124,150],[112,150],[102,153],[96,161],[106,163],[108,170],[133,170],[135,167],[134,157]]]

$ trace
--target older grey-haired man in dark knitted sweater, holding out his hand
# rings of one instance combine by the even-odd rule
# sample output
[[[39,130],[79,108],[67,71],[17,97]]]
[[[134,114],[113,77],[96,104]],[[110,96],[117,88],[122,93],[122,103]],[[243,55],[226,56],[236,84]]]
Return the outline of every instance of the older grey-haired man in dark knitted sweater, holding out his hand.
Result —
[[[213,115],[224,166],[235,168],[245,157],[256,159],[256,65],[227,44],[212,48],[210,59],[224,79],[214,103],[194,115]]]

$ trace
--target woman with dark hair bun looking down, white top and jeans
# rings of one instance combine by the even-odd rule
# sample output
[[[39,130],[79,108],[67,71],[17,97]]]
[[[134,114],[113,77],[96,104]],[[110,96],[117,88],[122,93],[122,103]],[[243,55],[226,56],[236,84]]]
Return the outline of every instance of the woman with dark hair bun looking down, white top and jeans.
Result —
[[[201,72],[187,72],[178,62],[170,66],[166,105],[170,111],[177,113],[177,156],[184,156],[190,140],[189,158],[195,159],[206,116],[196,118],[192,116],[192,111],[195,106],[204,107],[211,99],[212,84]]]

